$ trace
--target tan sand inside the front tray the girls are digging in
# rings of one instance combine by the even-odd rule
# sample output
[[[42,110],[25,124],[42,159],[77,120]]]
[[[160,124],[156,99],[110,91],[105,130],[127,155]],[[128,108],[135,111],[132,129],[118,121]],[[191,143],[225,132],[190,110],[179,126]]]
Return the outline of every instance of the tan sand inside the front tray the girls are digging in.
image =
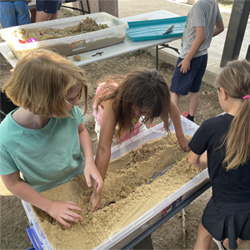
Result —
[[[53,249],[93,249],[159,204],[200,173],[188,164],[186,155],[171,135],[151,140],[112,161],[101,209],[92,215],[88,211],[92,190],[82,175],[44,192],[51,199],[77,202],[84,210],[83,219],[68,229],[34,208]],[[173,163],[164,175],[152,178]]]

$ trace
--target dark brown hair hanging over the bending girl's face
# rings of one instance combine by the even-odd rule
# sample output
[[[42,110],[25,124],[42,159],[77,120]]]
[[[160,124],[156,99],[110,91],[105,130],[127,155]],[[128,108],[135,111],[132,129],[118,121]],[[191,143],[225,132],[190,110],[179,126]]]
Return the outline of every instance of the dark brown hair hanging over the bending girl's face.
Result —
[[[109,94],[97,97],[95,108],[97,110],[103,101],[114,99],[113,110],[118,123],[118,138],[128,129],[133,130],[133,106],[148,115],[144,122],[152,122],[155,117],[161,117],[165,129],[169,131],[170,92],[163,76],[157,70],[135,70],[127,75],[118,87],[112,84],[105,86],[106,93]]]

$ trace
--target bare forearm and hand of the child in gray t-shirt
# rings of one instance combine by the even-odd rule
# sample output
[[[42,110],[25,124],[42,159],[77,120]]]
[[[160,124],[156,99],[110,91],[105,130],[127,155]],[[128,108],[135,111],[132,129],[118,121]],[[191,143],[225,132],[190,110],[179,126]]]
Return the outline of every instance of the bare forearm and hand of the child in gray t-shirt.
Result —
[[[205,27],[196,27],[195,30],[196,37],[193,44],[185,58],[178,64],[178,67],[181,67],[180,72],[184,74],[190,70],[190,62],[205,40]]]

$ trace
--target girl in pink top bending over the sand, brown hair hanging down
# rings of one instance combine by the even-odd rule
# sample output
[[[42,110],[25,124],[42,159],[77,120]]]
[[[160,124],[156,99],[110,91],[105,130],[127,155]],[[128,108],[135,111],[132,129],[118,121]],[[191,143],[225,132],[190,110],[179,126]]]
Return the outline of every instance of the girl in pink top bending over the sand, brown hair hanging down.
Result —
[[[96,132],[99,139],[96,166],[105,178],[112,141],[121,143],[147,129],[144,123],[151,123],[160,117],[166,131],[170,118],[173,121],[181,147],[188,151],[189,140],[183,134],[180,113],[170,100],[166,81],[157,70],[138,69],[128,74],[120,83],[102,83],[96,91],[93,105]],[[100,207],[101,194],[94,190],[90,207]]]

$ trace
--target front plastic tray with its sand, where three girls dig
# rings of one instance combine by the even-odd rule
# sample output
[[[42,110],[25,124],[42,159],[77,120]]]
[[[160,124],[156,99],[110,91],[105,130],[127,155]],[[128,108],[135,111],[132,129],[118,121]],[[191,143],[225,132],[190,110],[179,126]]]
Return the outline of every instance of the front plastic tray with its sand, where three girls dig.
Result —
[[[188,135],[198,127],[185,118],[182,124]],[[83,219],[66,229],[23,202],[29,232],[42,249],[121,249],[208,182],[207,171],[188,164],[186,156],[163,124],[150,128],[112,148],[100,210],[89,215],[92,190],[80,175],[43,195],[77,202]]]

